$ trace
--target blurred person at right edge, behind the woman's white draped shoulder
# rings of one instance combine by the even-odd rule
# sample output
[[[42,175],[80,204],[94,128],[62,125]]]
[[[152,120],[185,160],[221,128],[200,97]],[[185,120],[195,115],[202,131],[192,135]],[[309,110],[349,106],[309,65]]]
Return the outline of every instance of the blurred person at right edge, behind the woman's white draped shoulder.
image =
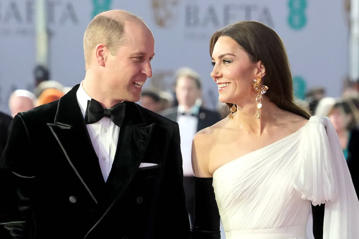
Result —
[[[359,196],[359,130],[356,120],[358,115],[358,109],[351,100],[336,102],[328,113],[328,118],[339,137],[357,196]]]

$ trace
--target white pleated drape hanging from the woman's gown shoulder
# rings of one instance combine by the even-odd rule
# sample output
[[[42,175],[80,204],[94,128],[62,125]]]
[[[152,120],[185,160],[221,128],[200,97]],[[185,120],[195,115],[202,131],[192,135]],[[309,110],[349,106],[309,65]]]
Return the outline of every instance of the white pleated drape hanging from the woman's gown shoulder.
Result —
[[[359,202],[336,131],[320,116],[305,130],[294,187],[313,205],[325,203],[323,239],[359,238]]]

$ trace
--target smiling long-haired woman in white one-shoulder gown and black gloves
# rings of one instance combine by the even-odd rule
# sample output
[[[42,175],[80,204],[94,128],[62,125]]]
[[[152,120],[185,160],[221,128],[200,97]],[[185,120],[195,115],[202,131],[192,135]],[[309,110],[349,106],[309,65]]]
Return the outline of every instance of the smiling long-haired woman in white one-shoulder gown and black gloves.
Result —
[[[210,55],[231,113],[193,140],[192,238],[219,238],[213,189],[227,239],[305,239],[311,203],[325,203],[323,238],[357,238],[359,202],[338,136],[294,103],[278,35],[242,21],[212,35]]]

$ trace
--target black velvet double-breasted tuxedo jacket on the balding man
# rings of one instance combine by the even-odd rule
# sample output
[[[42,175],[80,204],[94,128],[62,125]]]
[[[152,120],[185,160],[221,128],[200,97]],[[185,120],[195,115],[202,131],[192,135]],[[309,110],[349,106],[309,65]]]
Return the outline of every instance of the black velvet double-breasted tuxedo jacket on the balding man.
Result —
[[[6,228],[26,239],[189,238],[177,123],[126,102],[105,183],[78,87],[15,116],[0,163],[17,188]],[[141,162],[158,165],[139,168]]]

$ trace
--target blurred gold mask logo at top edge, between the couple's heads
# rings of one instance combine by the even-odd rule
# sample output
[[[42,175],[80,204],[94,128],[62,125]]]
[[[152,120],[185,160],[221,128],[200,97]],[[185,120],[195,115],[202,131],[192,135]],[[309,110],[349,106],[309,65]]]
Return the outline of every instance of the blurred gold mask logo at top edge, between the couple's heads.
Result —
[[[161,28],[170,27],[177,19],[177,5],[180,0],[151,0],[156,24]]]

